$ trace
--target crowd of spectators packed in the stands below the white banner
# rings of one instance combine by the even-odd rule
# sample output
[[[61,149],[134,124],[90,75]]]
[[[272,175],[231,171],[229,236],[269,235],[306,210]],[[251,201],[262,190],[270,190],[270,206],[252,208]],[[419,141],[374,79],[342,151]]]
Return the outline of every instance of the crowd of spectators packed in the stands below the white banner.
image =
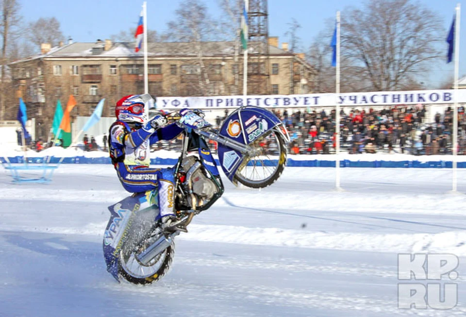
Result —
[[[348,111],[347,111],[348,112]],[[275,110],[290,134],[292,154],[329,154],[335,149],[335,110]],[[436,113],[426,122],[424,106],[393,106],[374,110],[340,111],[340,148],[357,153],[451,153],[453,110]],[[458,110],[458,154],[466,154],[466,116]]]

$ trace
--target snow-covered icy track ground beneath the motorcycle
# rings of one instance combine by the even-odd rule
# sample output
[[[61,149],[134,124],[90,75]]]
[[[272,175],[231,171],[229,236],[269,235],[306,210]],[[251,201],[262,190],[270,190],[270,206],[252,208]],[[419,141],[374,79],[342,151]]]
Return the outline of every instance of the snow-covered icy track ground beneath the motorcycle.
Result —
[[[235,188],[177,237],[150,286],[106,272],[107,206],[127,196],[111,165],[62,165],[50,184],[0,171],[0,316],[464,316],[466,195],[451,169],[286,168]],[[458,171],[466,192],[466,170]],[[460,256],[459,304],[400,310],[397,254]]]

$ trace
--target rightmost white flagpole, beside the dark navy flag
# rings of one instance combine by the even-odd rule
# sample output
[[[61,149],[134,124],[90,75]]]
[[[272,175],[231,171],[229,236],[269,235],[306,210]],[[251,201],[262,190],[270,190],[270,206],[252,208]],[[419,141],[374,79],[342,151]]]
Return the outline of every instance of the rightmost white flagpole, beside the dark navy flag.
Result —
[[[453,105],[453,186],[452,191],[457,191],[457,152],[458,152],[458,73],[459,73],[459,66],[460,66],[460,4],[456,5],[456,18],[455,18],[455,42],[454,42],[454,50],[455,50],[455,77],[454,77],[454,90],[455,90],[455,98],[454,98],[454,105]]]

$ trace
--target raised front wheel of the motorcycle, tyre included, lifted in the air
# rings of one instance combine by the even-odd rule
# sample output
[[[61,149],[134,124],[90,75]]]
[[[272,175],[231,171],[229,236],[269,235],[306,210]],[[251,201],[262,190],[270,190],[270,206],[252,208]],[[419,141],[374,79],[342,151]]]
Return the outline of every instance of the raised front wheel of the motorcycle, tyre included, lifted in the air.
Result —
[[[251,188],[264,188],[275,183],[286,165],[286,142],[283,135],[271,130],[249,146],[259,154],[245,156],[233,180]]]

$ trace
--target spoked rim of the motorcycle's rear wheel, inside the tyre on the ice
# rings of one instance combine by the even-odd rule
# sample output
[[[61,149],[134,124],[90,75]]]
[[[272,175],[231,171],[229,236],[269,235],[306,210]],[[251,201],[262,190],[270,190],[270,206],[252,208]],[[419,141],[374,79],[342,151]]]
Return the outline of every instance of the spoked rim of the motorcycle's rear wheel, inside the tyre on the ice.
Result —
[[[148,265],[144,265],[136,259],[134,250],[126,254],[123,254],[124,252],[122,251],[120,252],[121,267],[125,270],[126,273],[135,278],[147,278],[153,276],[154,273],[156,273],[162,267],[168,252],[168,248],[150,260]]]

